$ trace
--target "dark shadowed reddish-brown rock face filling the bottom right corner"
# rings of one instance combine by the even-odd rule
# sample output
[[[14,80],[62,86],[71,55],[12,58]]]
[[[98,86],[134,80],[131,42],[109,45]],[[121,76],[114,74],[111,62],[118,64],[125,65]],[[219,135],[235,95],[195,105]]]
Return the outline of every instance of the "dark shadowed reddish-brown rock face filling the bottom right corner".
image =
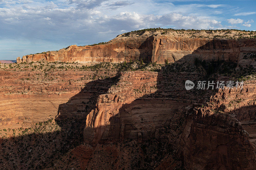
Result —
[[[183,156],[188,169],[254,169],[256,166],[255,145],[250,143],[248,133],[234,115],[209,115],[195,110],[195,116],[186,124],[185,134]]]

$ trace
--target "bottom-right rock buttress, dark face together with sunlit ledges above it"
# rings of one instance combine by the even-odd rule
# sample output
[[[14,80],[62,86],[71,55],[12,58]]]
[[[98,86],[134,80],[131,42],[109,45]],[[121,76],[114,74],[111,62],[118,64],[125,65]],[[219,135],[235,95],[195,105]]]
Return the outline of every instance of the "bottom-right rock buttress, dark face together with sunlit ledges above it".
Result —
[[[191,107],[180,139],[188,169],[255,169],[255,83],[219,90],[209,106]]]

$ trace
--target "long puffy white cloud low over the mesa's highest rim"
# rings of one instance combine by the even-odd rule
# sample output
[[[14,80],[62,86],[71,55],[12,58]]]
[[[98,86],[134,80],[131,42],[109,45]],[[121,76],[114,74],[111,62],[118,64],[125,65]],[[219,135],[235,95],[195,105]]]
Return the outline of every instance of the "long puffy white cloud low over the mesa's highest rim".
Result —
[[[221,22],[214,19],[197,18],[195,16],[184,16],[179,13],[165,15],[141,15],[136,12],[121,12],[114,16],[106,16],[103,25],[111,30],[133,30],[149,27],[176,27],[184,29],[214,29],[222,27]]]

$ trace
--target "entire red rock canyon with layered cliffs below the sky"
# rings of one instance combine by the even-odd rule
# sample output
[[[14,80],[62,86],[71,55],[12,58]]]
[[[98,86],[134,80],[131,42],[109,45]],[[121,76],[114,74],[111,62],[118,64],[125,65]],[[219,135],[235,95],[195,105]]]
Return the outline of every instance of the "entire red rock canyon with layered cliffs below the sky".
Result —
[[[249,35],[124,33],[0,64],[1,167],[255,169]],[[186,90],[186,80],[243,81],[243,88]]]

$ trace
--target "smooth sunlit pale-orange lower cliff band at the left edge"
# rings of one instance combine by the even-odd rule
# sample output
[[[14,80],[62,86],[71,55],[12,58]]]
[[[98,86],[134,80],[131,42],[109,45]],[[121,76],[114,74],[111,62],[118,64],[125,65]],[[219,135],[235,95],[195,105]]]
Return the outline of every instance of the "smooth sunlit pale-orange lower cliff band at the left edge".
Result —
[[[56,107],[63,102],[67,102],[75,94],[69,93],[61,96],[58,94],[2,96],[0,129],[31,127],[33,123],[44,122],[54,118],[58,111]],[[45,110],[45,112],[42,112],[42,110]]]

